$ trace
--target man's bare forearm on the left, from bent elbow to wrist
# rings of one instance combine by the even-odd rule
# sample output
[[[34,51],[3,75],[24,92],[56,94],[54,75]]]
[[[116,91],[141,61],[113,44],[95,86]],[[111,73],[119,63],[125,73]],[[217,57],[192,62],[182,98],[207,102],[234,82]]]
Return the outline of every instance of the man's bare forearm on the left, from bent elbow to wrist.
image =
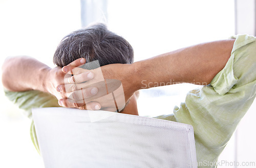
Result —
[[[2,66],[2,82],[10,91],[47,91],[45,78],[51,68],[27,56],[9,57]]]

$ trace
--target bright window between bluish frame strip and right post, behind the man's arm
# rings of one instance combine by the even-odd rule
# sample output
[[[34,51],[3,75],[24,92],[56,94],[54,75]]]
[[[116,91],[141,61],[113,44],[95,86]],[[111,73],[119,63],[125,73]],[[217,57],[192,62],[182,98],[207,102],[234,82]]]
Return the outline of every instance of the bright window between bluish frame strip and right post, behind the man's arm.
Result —
[[[135,61],[197,43],[226,39],[234,34],[233,0],[82,2],[82,14],[92,6],[95,12],[82,15],[84,20],[98,16],[94,21],[106,22],[111,31],[131,43]],[[172,113],[174,106],[184,101],[186,92],[195,87],[178,84],[141,90],[139,114],[157,116]]]

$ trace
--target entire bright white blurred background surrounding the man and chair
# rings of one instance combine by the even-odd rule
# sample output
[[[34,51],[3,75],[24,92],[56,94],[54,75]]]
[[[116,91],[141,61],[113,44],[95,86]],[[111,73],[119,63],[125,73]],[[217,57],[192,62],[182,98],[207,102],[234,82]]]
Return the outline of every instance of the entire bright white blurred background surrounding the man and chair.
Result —
[[[111,31],[129,41],[134,47],[135,61],[201,42],[226,39],[242,29],[238,25],[241,16],[237,12],[238,5],[244,12],[252,13],[240,20],[255,20],[254,7],[250,11],[246,3],[241,5],[239,2],[0,0],[0,65],[8,56],[28,55],[54,67],[52,57],[62,37],[92,21],[105,22]],[[255,6],[254,0],[246,2]],[[245,33],[255,34],[254,25],[251,26],[252,31],[246,30],[250,25],[244,26],[240,22]],[[179,84],[143,90],[138,100],[139,113],[150,116],[172,113],[174,106],[184,101],[186,92],[195,87]],[[2,83],[0,106],[0,167],[44,167],[30,139],[30,120],[7,100]],[[254,109],[250,109],[250,115],[244,119],[245,124],[241,124],[244,130],[251,128],[246,124],[252,122],[250,118]],[[249,131],[240,132],[243,138],[254,142],[255,135]],[[255,145],[241,146],[243,138],[239,133],[235,134],[220,159],[256,161],[250,157],[256,156],[256,150],[252,150],[256,149]]]

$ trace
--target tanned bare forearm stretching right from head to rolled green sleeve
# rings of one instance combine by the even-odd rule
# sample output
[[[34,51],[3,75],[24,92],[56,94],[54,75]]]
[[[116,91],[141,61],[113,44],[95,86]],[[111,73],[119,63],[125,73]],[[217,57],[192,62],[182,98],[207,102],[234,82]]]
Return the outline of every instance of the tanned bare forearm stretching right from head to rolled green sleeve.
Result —
[[[137,89],[175,83],[206,85],[224,68],[234,39],[186,47],[151,59],[135,62]]]

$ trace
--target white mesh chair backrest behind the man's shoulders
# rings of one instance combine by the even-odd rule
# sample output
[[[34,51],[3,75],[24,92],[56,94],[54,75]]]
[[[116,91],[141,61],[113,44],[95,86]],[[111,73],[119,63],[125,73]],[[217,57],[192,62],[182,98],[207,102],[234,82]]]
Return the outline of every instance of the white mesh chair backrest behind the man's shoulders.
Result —
[[[32,110],[45,167],[197,167],[193,127],[69,108]]]

